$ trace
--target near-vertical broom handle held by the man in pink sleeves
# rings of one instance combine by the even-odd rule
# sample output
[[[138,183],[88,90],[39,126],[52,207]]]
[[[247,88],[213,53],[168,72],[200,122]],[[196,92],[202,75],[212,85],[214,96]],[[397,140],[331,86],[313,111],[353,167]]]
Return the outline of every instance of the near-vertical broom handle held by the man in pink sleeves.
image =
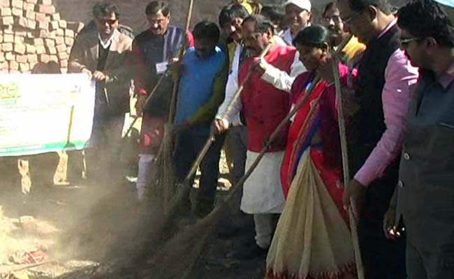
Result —
[[[337,96],[337,113],[339,114],[339,134],[342,150],[342,167],[344,169],[344,188],[347,188],[350,183],[350,170],[349,170],[349,152],[346,140],[346,128],[345,128],[345,114],[344,114],[344,101],[342,96],[340,74],[339,74],[339,59],[335,57],[334,63],[332,63],[332,71],[335,78],[336,86],[336,96]],[[353,214],[353,211],[350,207],[349,209],[349,218],[350,218],[350,229],[351,229],[351,238],[353,241],[353,250],[355,252],[356,260],[356,271],[358,273],[358,279],[364,279],[364,267],[363,260],[361,258],[360,243],[358,240],[358,229],[356,227],[357,220],[356,216]]]

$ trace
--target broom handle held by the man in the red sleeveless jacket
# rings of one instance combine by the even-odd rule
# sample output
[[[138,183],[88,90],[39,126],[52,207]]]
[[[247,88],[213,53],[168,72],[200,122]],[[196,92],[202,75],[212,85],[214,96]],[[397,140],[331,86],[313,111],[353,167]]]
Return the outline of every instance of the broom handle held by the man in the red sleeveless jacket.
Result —
[[[268,45],[265,47],[265,49],[261,52],[260,58],[265,57],[265,55],[270,51],[272,45],[273,45],[272,41],[270,41],[270,43],[268,43]],[[241,92],[244,89],[244,84],[246,84],[246,82],[248,82],[251,79],[252,73],[254,73],[254,70],[251,68],[251,70],[249,70],[249,73],[247,73],[247,76],[244,78],[244,81],[242,82],[240,87],[238,87],[237,91],[233,95],[233,98],[230,100],[230,102],[228,102],[228,106],[226,107],[226,110],[222,113],[222,116],[221,116],[222,119],[224,119],[227,116],[228,112],[230,112],[230,110],[232,110],[233,105],[235,104],[237,98],[240,98]],[[210,137],[208,137],[208,140],[203,145],[203,149],[200,151],[200,153],[198,153],[198,156],[197,156],[196,160],[194,161],[194,163],[192,164],[192,167],[189,170],[189,173],[186,175],[185,181],[189,181],[192,178],[192,176],[197,172],[198,166],[200,165],[200,163],[202,163],[203,158],[205,158],[205,155],[207,155],[207,152],[208,152],[208,150],[210,150],[210,146],[213,142],[214,142],[214,130],[212,128],[210,131]]]

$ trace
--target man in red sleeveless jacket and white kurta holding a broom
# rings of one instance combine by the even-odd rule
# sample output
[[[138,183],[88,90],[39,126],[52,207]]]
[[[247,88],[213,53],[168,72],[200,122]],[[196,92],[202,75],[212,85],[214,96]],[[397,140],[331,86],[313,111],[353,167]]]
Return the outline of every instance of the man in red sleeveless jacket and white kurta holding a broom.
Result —
[[[244,44],[252,56],[240,68],[239,83],[244,83],[240,100],[234,104],[226,119],[217,119],[215,126],[219,133],[224,132],[231,123],[230,119],[242,110],[247,126],[247,168],[257,158],[279,123],[291,108],[288,91],[295,77],[305,68],[298,60],[294,47],[274,45],[264,59],[258,55],[265,49],[274,35],[272,24],[260,15],[248,17],[243,22]],[[254,71],[249,80],[246,77]],[[268,153],[253,174],[244,183],[241,210],[254,214],[256,245],[243,249],[243,257],[263,254],[270,246],[272,234],[279,214],[284,209],[279,169],[286,146],[287,129],[281,130],[278,140],[272,142]]]

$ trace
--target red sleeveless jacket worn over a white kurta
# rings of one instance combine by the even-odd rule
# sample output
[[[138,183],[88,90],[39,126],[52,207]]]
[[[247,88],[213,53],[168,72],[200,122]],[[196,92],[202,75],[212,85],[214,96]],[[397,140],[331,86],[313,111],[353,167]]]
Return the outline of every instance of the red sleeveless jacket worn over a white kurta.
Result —
[[[265,60],[279,70],[290,74],[295,54],[295,47],[277,46],[268,52]],[[254,58],[250,58],[244,61],[240,69],[240,84],[249,73],[253,60]],[[258,74],[253,74],[249,82],[244,84],[241,100],[248,131],[247,149],[260,152],[270,135],[290,112],[290,94],[265,82]],[[268,151],[285,149],[288,126],[280,131],[279,137],[272,142]]]

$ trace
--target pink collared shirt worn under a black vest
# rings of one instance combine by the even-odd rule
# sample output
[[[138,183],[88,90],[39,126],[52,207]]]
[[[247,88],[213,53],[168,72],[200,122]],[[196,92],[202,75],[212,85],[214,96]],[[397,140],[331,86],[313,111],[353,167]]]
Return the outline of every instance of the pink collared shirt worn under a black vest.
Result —
[[[397,20],[393,20],[379,37],[396,23]],[[404,142],[407,114],[412,98],[411,87],[416,84],[417,80],[418,68],[411,66],[404,52],[397,49],[388,59],[385,85],[381,96],[386,130],[363,167],[355,175],[355,179],[362,185],[368,186],[372,181],[378,179],[386,167],[399,156]]]

